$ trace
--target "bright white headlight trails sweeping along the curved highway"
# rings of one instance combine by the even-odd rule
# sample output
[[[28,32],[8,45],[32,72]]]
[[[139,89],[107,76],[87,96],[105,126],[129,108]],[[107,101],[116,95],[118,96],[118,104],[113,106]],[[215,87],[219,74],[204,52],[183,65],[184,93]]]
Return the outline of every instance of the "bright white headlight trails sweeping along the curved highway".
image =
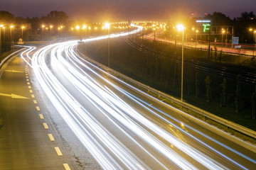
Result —
[[[117,38],[119,36],[137,33],[137,31],[140,30],[142,30],[142,27],[138,27],[137,30],[133,30],[130,33],[112,34],[110,35],[110,38]],[[109,36],[104,35],[82,41],[90,42],[107,38],[109,38]],[[92,65],[90,65],[90,63],[86,60],[82,60],[78,55],[75,54],[74,48],[77,45],[77,42],[78,41],[59,42],[41,48],[34,53],[32,58],[32,66],[38,81],[40,82],[43,90],[46,92],[48,98],[50,98],[50,101],[52,101],[53,105],[63,117],[65,122],[70,126],[71,130],[75,132],[75,135],[78,136],[82,144],[85,145],[85,147],[95,157],[102,168],[122,169],[123,166],[125,166],[127,169],[149,169],[149,166],[142,162],[142,160],[132,153],[129,148],[124,146],[122,142],[114,137],[114,135],[112,135],[112,133],[107,130],[107,128],[105,128],[104,125],[102,125],[92,115],[92,113],[87,111],[82,104],[79,103],[75,97],[73,97],[73,94],[71,94],[70,91],[65,89],[65,87],[60,83],[60,81],[58,81],[46,64],[46,57],[48,57],[49,54],[50,60],[52,60],[52,63],[54,63],[55,69],[58,69],[65,76],[65,78],[67,78],[70,83],[75,86],[80,94],[87,98],[87,101],[90,101],[92,106],[97,108],[97,111],[102,113],[102,115],[104,115],[107,120],[112,122],[117,129],[124,132],[124,135],[129,137],[129,139],[144,150],[146,154],[149,154],[149,157],[158,162],[158,164],[162,166],[162,169],[168,169],[164,165],[164,162],[157,159],[151,152],[146,151],[146,149],[139,144],[139,142],[137,142],[131,134],[135,134],[137,137],[150,145],[151,148],[154,148],[156,152],[159,152],[160,154],[164,155],[166,159],[169,159],[170,162],[176,164],[176,166],[178,166],[180,169],[197,169],[197,167],[191,164],[191,162],[189,162],[187,159],[181,157],[181,155],[174,152],[173,149],[161,142],[151,132],[161,136],[161,138],[166,142],[169,142],[180,152],[186,154],[186,157],[194,159],[196,162],[198,162],[198,164],[205,166],[207,169],[228,169],[226,166],[216,162],[203,152],[198,151],[181,140],[178,140],[174,135],[171,135],[169,132],[159,127],[159,125],[142,116],[138,111],[129,106],[128,103],[124,102],[121,98],[114,94],[114,91],[112,91],[109,86],[130,98],[139,106],[142,106],[142,108],[149,111],[149,113],[153,113],[166,123],[174,125],[174,123],[171,123],[169,120],[166,120],[156,113],[156,111],[162,113],[160,110],[157,108],[154,108],[155,111],[149,109],[146,107],[149,103],[145,103],[136,96],[133,96],[127,91],[120,89],[118,86],[112,84],[110,81],[100,76],[100,74],[97,74],[97,72],[90,69],[90,66]],[[27,57],[29,52],[27,52]],[[96,66],[94,65],[93,67]],[[97,69],[100,70],[99,68]],[[101,70],[101,72],[104,71]],[[93,74],[94,77],[92,77],[91,74]],[[105,74],[107,73],[105,72]],[[108,86],[97,82],[95,77],[105,81]],[[178,121],[175,118],[169,118]],[[188,127],[186,124],[183,125]],[[201,145],[208,147],[208,149],[215,152],[215,154],[219,154],[220,157],[228,159],[229,162],[239,166],[241,169],[246,169],[244,166],[226,157],[224,154],[221,154],[209,145],[206,145],[201,140],[198,140],[196,137],[188,134],[188,132],[184,131],[182,128],[179,128],[176,125],[174,125],[174,127],[186,134],[188,137],[191,137],[193,140],[201,143]],[[194,130],[192,127],[189,128]],[[196,130],[194,131],[198,132],[198,134],[201,133]],[[214,139],[211,140],[218,143],[218,145],[221,145],[220,142]],[[103,146],[101,144],[103,144]],[[222,146],[225,147],[225,145]],[[229,149],[228,147],[225,148]],[[111,153],[107,152],[107,150],[110,150]],[[234,150],[232,151],[235,152]],[[235,154],[240,153],[235,152]],[[113,159],[112,155],[117,157],[118,160]]]

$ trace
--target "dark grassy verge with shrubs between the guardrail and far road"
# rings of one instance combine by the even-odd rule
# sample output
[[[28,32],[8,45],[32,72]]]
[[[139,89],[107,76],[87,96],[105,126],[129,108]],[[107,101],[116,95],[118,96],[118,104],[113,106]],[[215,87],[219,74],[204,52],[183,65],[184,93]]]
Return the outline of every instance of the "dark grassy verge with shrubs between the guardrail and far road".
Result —
[[[135,40],[135,36],[133,39]],[[141,38],[137,40],[142,42]],[[110,41],[110,67],[154,89],[180,98],[181,60],[171,55],[176,52],[177,56],[181,56],[181,47],[151,40],[143,40],[143,44],[151,49],[166,52],[170,56],[159,58],[148,55],[128,45],[124,38],[114,39]],[[107,40],[80,45],[79,50],[107,66]],[[186,59],[208,62],[207,54],[207,51],[201,49],[185,48],[184,56]],[[210,60],[211,63],[255,72],[253,67],[255,60],[251,58],[220,52],[216,55]],[[221,61],[220,57],[222,57]],[[252,119],[252,108],[253,106],[255,108],[256,101],[255,84],[248,84],[240,79],[240,75],[235,75],[235,78],[223,77],[213,72],[188,67],[185,64],[183,98],[198,108],[256,130],[256,120]]]

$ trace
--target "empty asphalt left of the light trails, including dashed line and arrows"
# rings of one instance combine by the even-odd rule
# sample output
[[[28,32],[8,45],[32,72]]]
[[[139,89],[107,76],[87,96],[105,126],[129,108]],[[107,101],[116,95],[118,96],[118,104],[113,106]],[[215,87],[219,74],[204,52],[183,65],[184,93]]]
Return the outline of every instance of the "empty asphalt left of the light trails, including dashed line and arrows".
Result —
[[[0,169],[101,169],[17,55],[0,71]]]

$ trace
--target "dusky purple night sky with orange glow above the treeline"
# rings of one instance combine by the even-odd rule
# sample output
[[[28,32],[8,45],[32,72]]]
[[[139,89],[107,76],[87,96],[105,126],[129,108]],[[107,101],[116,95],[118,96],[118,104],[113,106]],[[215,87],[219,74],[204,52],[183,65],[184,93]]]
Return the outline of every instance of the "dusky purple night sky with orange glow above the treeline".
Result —
[[[46,16],[50,11],[64,11],[70,19],[159,20],[178,15],[203,16],[218,11],[240,16],[256,13],[256,0],[0,0],[0,10],[14,16]]]

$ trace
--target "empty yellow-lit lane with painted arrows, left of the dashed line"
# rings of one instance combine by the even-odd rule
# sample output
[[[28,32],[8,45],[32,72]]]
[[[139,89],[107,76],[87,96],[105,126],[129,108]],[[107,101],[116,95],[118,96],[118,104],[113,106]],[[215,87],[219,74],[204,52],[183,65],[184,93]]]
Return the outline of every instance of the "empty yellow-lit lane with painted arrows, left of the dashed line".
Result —
[[[1,94],[19,95],[0,96],[4,117],[0,130],[1,169],[63,169],[28,90],[30,82],[26,80],[25,64],[20,57],[15,57],[6,66],[0,81]]]

